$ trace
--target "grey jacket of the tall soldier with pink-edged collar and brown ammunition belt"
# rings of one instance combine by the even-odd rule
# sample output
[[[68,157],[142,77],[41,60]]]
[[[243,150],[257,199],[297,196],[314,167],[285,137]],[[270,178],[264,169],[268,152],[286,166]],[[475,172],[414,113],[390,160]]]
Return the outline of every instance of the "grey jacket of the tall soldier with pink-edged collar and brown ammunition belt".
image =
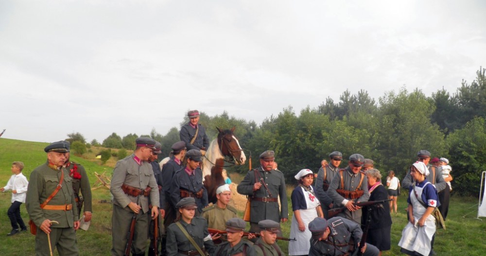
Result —
[[[135,154],[131,154],[119,160],[115,169],[113,169],[110,187],[110,192],[113,194],[113,204],[131,211],[126,206],[130,202],[137,203],[137,197],[125,194],[121,189],[121,185],[126,184],[141,190],[144,190],[147,186],[152,188],[150,190],[150,200],[153,206],[159,207],[158,186],[155,181],[154,171],[152,171],[152,165],[147,161],[142,161],[142,164],[139,165],[133,158],[134,156]],[[141,205],[143,213],[149,211],[149,200],[147,197],[141,195],[139,205]]]

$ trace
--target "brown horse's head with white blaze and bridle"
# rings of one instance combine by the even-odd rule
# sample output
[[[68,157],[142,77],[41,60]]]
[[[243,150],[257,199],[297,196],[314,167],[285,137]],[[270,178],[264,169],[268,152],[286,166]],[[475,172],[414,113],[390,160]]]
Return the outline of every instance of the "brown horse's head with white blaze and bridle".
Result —
[[[218,127],[216,127],[216,129],[219,131],[218,144],[221,153],[233,157],[236,164],[244,164],[246,156],[244,155],[243,149],[240,147],[240,142],[238,142],[238,139],[233,135],[235,127],[233,126],[231,130],[222,130]]]

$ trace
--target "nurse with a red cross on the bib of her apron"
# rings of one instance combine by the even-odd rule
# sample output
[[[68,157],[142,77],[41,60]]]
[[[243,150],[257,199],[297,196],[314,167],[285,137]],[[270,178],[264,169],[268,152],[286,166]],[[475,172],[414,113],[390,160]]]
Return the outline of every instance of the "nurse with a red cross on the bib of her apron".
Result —
[[[314,174],[309,169],[300,170],[295,179],[299,185],[294,188],[292,192],[292,210],[294,217],[292,217],[292,224],[290,226],[290,237],[297,239],[289,243],[289,255],[308,255],[311,249],[312,233],[307,227],[316,217],[324,218],[321,204],[315,196]]]

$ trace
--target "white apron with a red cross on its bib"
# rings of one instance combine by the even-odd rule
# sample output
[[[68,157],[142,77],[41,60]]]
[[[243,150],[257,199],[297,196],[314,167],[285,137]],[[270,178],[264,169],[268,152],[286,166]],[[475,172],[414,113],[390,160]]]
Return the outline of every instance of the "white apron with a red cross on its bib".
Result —
[[[309,231],[307,225],[309,225],[309,222],[312,222],[317,217],[316,207],[320,205],[319,200],[317,199],[316,196],[312,195],[312,193],[310,192],[307,192],[307,190],[302,187],[297,187],[295,189],[299,189],[299,188],[302,189],[307,204],[306,210],[302,210],[302,209],[299,210],[300,218],[302,219],[302,222],[304,222],[305,225],[305,231],[302,232],[299,230],[299,223],[295,219],[295,214],[294,214],[290,226],[290,238],[295,238],[297,240],[289,242],[290,256],[309,254],[309,250],[311,249],[310,240],[311,240],[312,233],[311,231]],[[312,187],[311,187],[311,191],[314,192]]]

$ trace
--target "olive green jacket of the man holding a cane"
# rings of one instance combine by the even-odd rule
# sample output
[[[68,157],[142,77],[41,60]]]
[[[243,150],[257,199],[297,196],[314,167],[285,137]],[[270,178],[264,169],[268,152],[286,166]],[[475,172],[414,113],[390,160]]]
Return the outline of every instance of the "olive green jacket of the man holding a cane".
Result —
[[[55,167],[54,167],[55,168]],[[52,194],[61,178],[61,171],[64,171],[64,181],[61,189],[49,201],[48,205],[69,205],[72,204],[72,209],[64,210],[44,210],[40,205]],[[29,217],[40,226],[45,220],[59,222],[53,223],[54,228],[73,227],[73,222],[79,220],[76,202],[74,201],[74,192],[72,190],[72,178],[69,177],[68,171],[65,168],[54,170],[49,167],[48,163],[37,167],[32,171],[29,179],[29,186],[27,188],[27,198],[25,206]]]

